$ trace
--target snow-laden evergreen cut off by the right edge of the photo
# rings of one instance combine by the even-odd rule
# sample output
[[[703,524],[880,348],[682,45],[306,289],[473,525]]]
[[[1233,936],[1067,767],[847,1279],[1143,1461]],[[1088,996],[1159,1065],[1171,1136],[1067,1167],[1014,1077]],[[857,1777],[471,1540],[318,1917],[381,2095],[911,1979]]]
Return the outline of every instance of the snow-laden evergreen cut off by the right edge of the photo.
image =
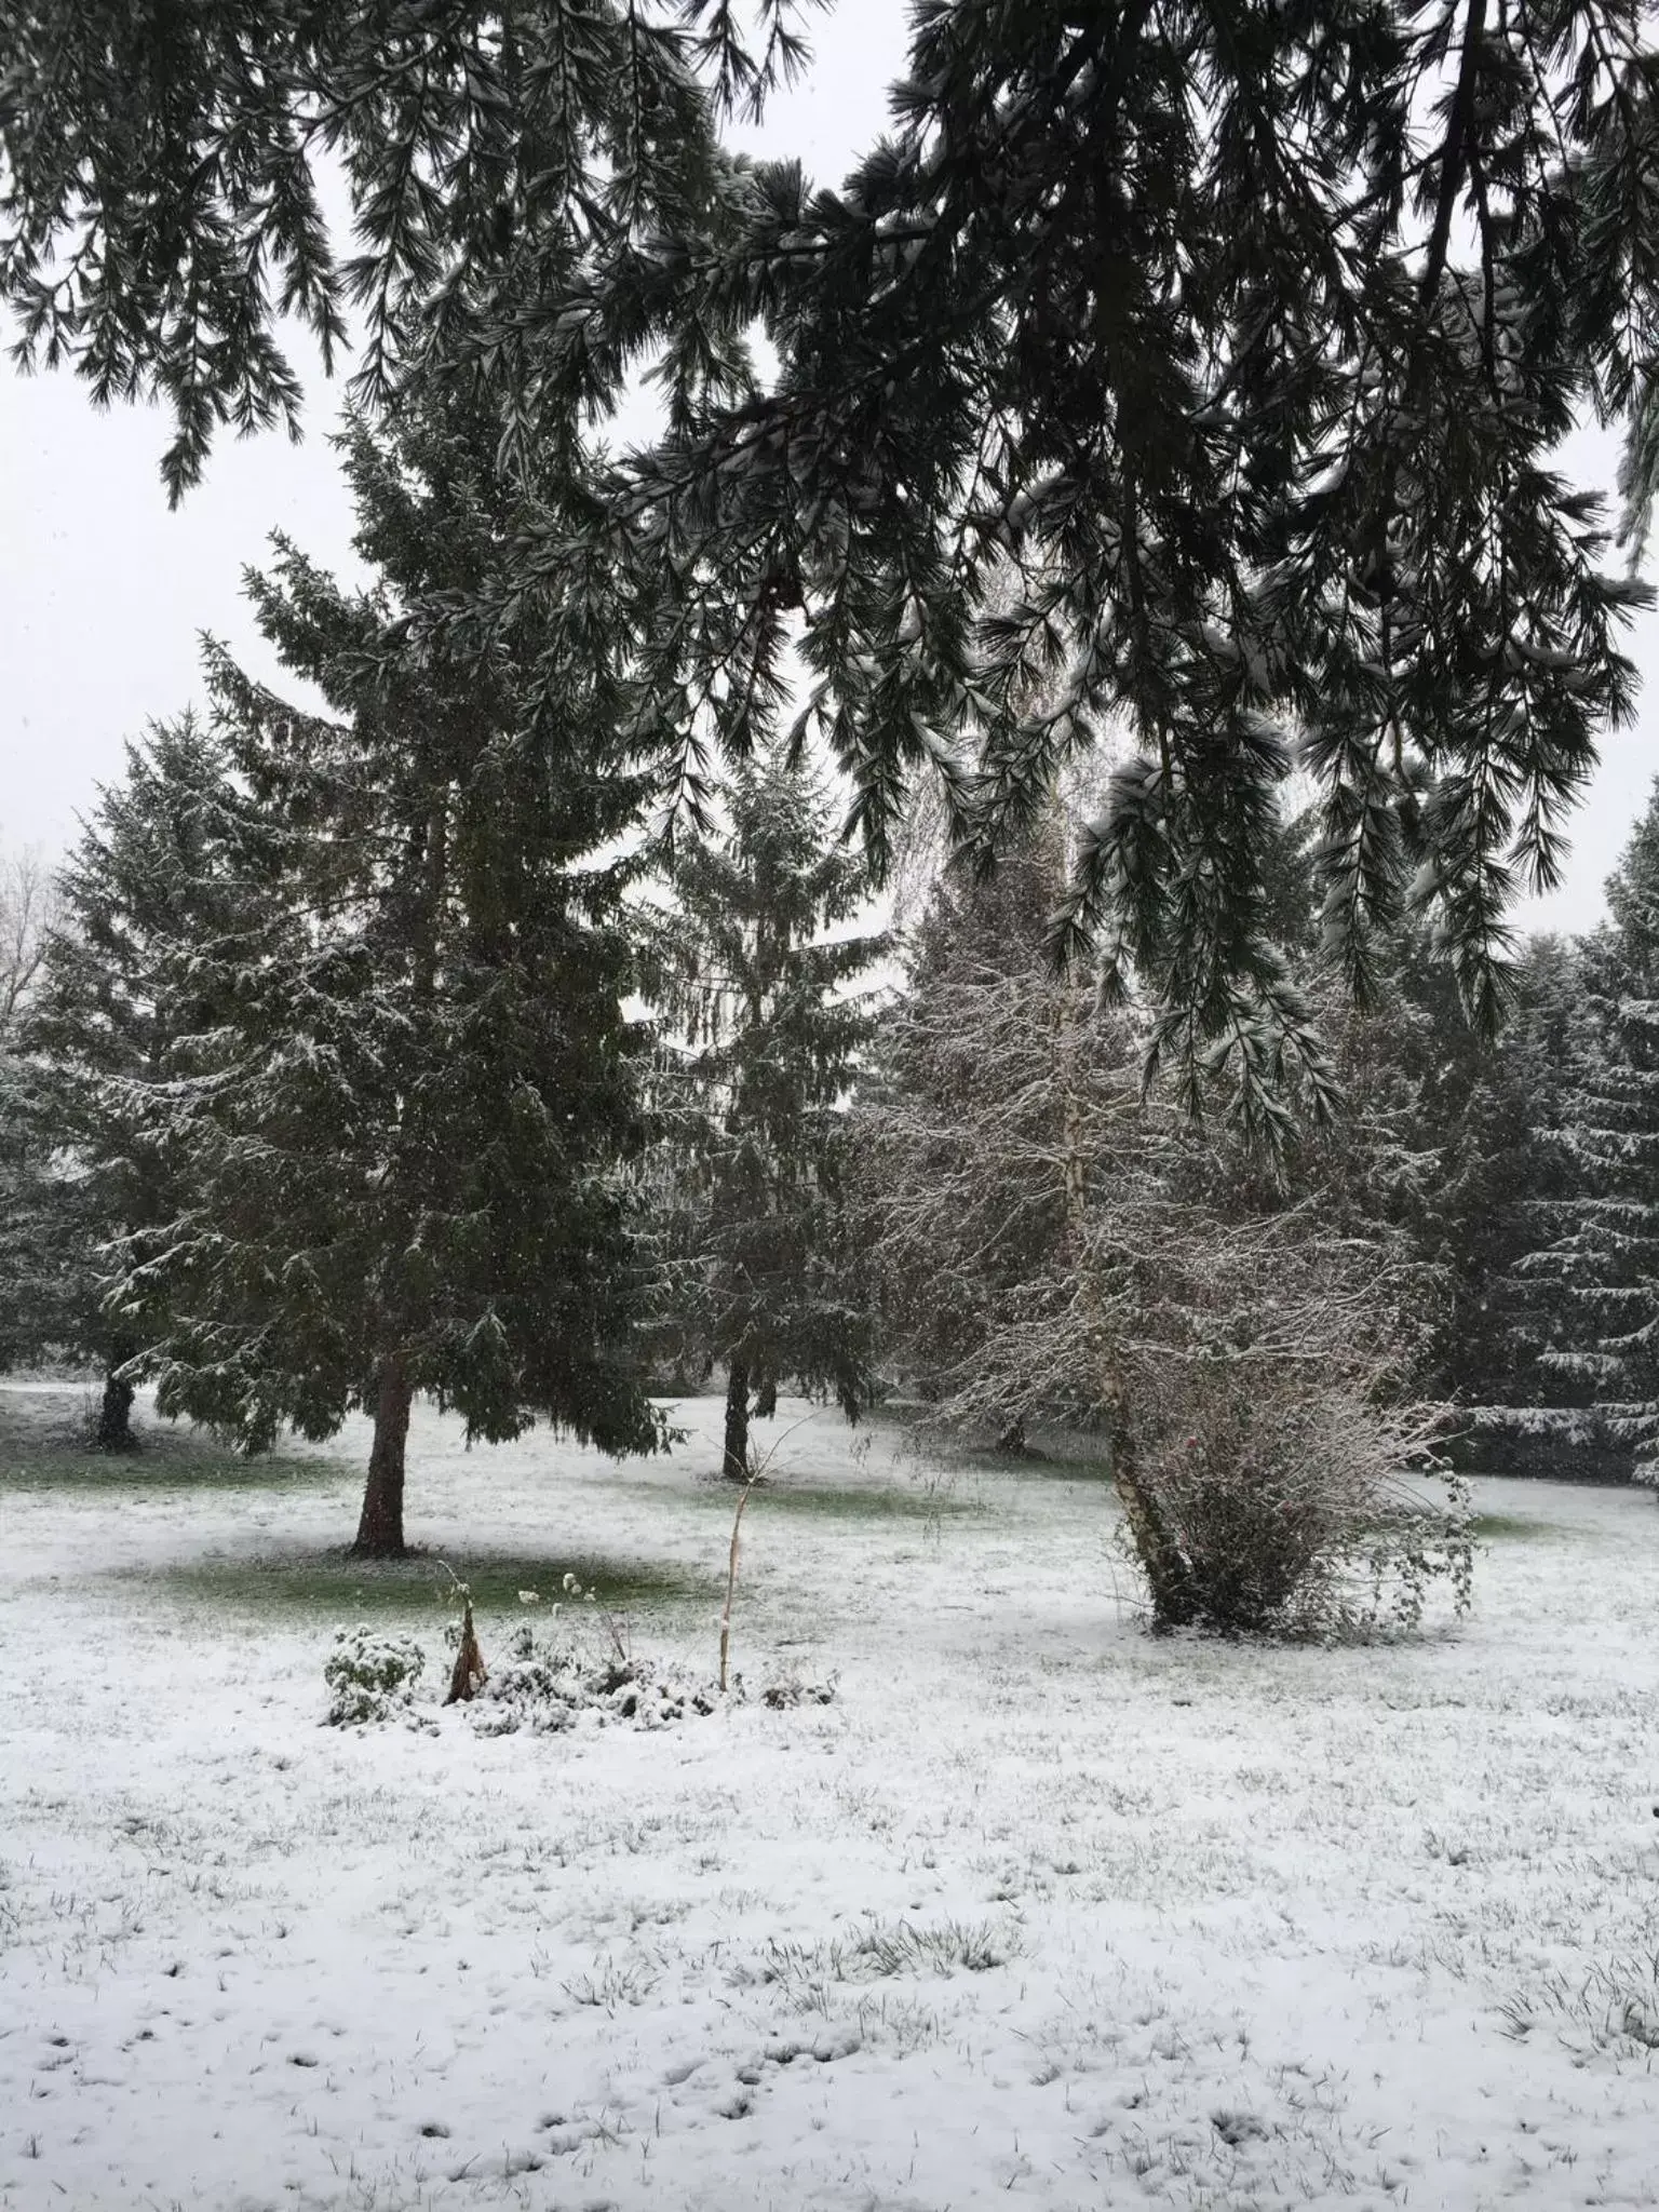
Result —
[[[1520,1272],[1555,1329],[1548,1400],[1517,1425],[1604,1442],[1659,1484],[1659,785],[1608,880],[1613,918],[1579,958],[1582,1006],[1557,1126],[1568,1190],[1540,1203],[1548,1241]]]

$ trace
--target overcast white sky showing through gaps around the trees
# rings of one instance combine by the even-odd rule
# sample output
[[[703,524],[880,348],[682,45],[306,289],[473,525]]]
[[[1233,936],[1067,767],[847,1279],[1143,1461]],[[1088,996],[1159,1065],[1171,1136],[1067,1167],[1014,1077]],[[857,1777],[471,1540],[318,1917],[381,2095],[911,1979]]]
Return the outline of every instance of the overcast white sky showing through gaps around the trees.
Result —
[[[814,24],[812,77],[779,102],[757,148],[794,148],[821,181],[885,122],[902,62],[907,9],[841,0]],[[69,376],[20,378],[0,361],[0,843],[60,849],[122,743],[199,699],[197,639],[223,637],[248,666],[276,670],[241,602],[241,571],[272,529],[336,573],[352,573],[352,513],[325,442],[338,394],[314,387],[310,434],[223,440],[208,482],[168,513],[157,476],[166,422],[142,409],[93,411]],[[1573,473],[1613,480],[1613,442],[1586,434]],[[1648,697],[1632,732],[1608,741],[1575,821],[1566,887],[1531,905],[1528,927],[1584,929],[1601,883],[1659,774],[1659,617],[1632,633]]]

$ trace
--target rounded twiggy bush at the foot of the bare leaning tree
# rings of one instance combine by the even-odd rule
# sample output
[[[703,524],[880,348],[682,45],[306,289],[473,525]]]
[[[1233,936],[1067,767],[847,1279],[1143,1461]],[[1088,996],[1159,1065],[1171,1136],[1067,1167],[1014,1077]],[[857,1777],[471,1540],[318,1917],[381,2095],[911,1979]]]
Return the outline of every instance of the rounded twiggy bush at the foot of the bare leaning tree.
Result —
[[[1436,1586],[1469,1601],[1467,1491],[1420,1413],[1212,1354],[1146,1378],[1139,1427],[1126,1531],[1166,1624],[1374,1635],[1416,1628]]]

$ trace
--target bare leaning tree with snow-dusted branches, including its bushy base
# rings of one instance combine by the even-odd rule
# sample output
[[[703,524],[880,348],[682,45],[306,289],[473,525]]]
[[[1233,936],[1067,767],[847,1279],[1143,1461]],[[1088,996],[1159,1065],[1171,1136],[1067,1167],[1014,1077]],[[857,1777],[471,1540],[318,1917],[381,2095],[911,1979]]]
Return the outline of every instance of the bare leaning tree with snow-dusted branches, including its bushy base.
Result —
[[[1133,1020],[1044,962],[1051,863],[940,894],[860,1110],[891,1352],[938,1429],[1104,1438],[1155,1626],[1413,1619],[1469,1559],[1400,1484],[1433,1429],[1402,1354],[1422,1270],[1316,1201],[1234,1203],[1144,1095]]]

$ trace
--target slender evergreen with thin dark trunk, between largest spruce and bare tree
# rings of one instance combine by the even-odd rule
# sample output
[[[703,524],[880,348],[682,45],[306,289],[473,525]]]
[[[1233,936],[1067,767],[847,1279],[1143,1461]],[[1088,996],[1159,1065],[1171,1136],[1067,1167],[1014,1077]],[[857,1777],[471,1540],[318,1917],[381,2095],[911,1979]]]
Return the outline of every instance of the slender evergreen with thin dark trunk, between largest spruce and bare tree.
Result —
[[[785,1383],[869,1400],[872,1321],[845,1221],[847,1091],[869,1042],[856,984],[885,951],[847,933],[863,863],[825,796],[779,757],[741,765],[730,834],[686,843],[672,909],[653,931],[661,1013],[650,1159],[664,1250],[659,1349],[677,1369],[726,1367],[728,1480],[750,1473],[750,1413]]]

